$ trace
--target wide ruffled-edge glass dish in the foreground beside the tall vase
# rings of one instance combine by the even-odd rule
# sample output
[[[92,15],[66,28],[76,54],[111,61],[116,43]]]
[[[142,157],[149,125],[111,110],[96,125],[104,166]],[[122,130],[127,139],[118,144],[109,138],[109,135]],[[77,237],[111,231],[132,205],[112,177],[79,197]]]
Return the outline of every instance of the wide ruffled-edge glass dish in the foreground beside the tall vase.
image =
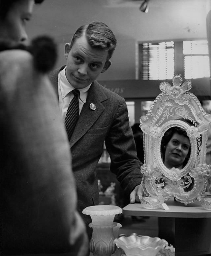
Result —
[[[127,256],[155,256],[159,250],[168,246],[164,239],[132,234],[114,239],[116,246],[121,248]]]

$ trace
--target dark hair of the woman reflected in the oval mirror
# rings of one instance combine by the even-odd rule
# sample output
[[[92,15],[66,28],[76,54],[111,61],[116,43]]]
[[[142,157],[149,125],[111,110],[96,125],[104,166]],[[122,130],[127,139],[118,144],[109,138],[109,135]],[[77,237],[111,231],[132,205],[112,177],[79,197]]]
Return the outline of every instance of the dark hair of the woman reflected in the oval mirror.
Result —
[[[169,128],[164,133],[163,138],[161,140],[161,158],[162,158],[163,162],[165,161],[166,146],[167,146],[168,142],[170,141],[170,139],[172,138],[172,136],[174,135],[174,133],[178,133],[179,135],[183,135],[189,139],[185,129],[183,129],[181,127],[177,127],[177,126]],[[190,155],[191,155],[191,147],[189,148],[188,154],[183,162],[183,167],[188,163]]]

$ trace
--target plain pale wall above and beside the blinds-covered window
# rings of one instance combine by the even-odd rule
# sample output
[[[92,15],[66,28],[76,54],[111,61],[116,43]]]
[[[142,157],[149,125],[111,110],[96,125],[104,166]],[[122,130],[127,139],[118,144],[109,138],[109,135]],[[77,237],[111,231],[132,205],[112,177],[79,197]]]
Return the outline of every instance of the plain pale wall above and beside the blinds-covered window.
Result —
[[[112,66],[100,80],[136,79],[136,46],[153,40],[206,38],[206,15],[211,0],[150,0],[149,12],[139,11],[142,1],[45,0],[36,6],[28,25],[30,37],[52,35],[59,47],[57,66],[65,63],[64,43],[80,25],[102,20],[113,30],[118,45]]]

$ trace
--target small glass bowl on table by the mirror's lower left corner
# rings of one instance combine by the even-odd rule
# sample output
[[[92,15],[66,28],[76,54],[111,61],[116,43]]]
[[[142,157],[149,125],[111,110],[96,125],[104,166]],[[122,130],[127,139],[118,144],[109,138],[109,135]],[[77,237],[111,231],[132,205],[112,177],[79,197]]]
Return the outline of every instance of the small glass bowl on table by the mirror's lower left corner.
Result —
[[[141,206],[146,209],[162,208],[162,203],[164,203],[164,198],[162,196],[157,196],[157,197],[142,197],[140,195],[138,196],[141,202]]]

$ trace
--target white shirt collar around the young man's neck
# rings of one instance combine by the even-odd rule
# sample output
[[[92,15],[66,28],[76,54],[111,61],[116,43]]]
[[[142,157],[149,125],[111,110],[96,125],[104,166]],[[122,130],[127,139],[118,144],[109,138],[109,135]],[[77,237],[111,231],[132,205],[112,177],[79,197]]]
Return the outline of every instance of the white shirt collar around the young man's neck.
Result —
[[[60,85],[61,85],[61,93],[62,93],[62,98],[64,98],[69,92],[73,91],[75,89],[75,87],[73,87],[67,80],[67,77],[65,75],[65,70],[66,67],[61,70],[60,73]],[[91,83],[92,84],[92,83]],[[82,89],[78,89],[78,91],[80,91],[80,99],[85,103],[86,102],[86,98],[87,98],[87,94],[88,94],[88,90],[90,88],[90,85],[82,88]]]

